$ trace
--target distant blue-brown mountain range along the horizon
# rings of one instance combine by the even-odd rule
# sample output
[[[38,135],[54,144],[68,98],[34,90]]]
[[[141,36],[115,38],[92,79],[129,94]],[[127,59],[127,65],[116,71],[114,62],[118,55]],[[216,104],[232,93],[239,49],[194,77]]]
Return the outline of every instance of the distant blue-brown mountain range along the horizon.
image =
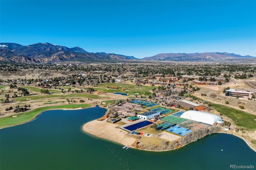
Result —
[[[256,59],[250,55],[234,53],[161,53],[142,59],[114,53],[90,53],[80,47],[68,48],[51,43],[20,45],[17,43],[0,43],[0,61],[11,63],[63,63],[90,61],[229,61],[235,59]]]

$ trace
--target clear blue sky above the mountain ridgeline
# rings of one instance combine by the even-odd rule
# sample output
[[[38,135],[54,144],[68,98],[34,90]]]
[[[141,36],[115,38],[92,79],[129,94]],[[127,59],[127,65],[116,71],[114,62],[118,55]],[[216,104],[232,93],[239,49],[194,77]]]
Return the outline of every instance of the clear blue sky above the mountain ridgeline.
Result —
[[[255,0],[0,0],[0,42],[133,55],[256,56]]]

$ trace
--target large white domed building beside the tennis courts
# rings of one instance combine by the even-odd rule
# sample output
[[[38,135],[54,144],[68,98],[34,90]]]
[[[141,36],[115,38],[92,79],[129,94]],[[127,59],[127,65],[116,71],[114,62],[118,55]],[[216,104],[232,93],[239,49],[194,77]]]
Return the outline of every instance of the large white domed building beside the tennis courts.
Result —
[[[205,113],[201,111],[186,111],[181,116],[181,118],[185,118],[192,121],[202,122],[208,125],[213,125],[214,123],[223,123],[221,117],[211,114],[211,113]]]

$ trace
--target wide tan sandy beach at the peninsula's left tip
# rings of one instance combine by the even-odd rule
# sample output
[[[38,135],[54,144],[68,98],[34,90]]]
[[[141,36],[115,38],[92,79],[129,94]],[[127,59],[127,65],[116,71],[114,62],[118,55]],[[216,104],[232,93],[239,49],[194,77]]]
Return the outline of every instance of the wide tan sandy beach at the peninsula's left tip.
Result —
[[[107,123],[106,121],[94,120],[84,124],[83,130],[94,136],[131,146],[135,138],[129,136],[126,131],[116,127],[117,125]]]

